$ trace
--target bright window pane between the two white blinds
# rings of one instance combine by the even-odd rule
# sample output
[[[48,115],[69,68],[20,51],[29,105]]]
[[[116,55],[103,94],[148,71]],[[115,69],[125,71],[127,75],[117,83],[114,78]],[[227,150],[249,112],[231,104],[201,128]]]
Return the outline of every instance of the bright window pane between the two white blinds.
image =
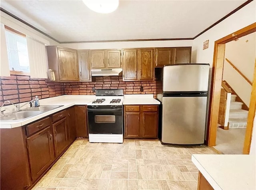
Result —
[[[25,35],[5,30],[10,70],[30,72]]]

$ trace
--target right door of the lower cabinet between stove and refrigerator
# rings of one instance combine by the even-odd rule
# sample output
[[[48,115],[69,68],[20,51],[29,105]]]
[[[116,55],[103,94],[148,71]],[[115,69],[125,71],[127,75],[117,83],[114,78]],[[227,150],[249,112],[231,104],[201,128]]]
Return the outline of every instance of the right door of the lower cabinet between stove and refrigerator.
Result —
[[[142,137],[157,138],[158,113],[143,112],[142,116]]]

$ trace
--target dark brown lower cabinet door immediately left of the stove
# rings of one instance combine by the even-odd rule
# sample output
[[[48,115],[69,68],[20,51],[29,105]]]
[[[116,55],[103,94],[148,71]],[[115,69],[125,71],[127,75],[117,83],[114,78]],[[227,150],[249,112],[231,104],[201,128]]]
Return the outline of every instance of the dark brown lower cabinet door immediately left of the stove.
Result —
[[[87,107],[75,106],[76,110],[76,137],[88,138],[87,130]]]

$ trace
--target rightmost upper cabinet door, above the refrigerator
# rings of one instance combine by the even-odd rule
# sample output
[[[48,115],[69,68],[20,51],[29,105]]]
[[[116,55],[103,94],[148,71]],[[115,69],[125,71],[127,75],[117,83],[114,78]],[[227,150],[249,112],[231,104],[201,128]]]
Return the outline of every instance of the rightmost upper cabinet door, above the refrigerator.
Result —
[[[191,47],[175,48],[175,64],[190,63]]]

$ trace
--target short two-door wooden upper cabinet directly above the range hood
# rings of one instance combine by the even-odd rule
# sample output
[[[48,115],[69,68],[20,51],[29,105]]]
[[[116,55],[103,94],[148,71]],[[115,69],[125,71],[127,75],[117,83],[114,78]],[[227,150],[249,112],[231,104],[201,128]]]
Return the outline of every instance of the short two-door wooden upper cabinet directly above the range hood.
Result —
[[[121,68],[121,50],[90,50],[92,69]]]

